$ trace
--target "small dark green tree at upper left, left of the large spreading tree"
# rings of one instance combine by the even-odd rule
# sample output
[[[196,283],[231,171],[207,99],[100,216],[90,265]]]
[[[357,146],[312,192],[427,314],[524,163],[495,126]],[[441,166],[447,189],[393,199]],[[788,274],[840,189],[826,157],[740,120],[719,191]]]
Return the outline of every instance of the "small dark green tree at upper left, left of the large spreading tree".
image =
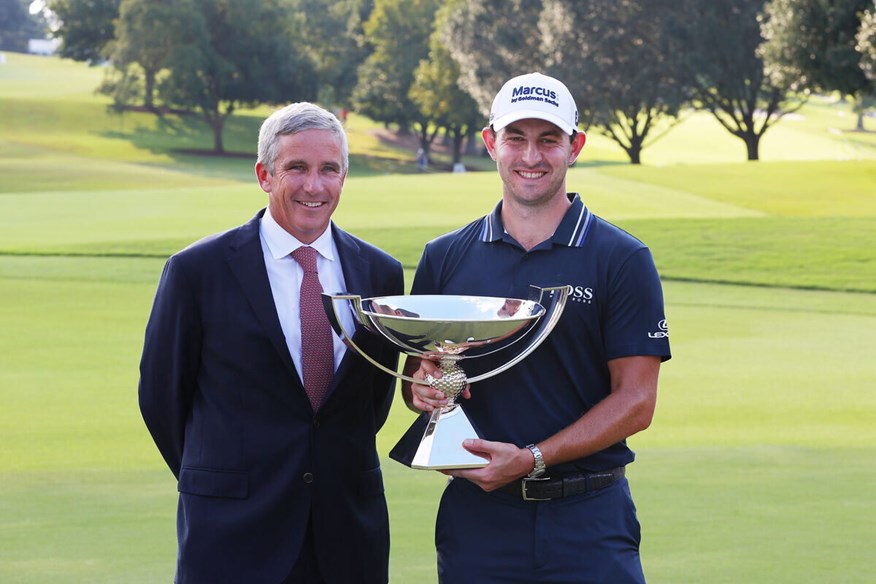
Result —
[[[113,21],[121,0],[51,0],[49,10],[57,19],[55,38],[62,57],[98,63],[106,59],[106,47],[115,38]]]

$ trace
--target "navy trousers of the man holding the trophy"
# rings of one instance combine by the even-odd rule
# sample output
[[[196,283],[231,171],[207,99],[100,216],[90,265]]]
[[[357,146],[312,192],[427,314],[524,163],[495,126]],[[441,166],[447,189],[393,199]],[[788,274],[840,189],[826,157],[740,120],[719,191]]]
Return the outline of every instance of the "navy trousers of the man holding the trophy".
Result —
[[[449,481],[435,526],[441,584],[644,584],[629,483],[552,501]]]

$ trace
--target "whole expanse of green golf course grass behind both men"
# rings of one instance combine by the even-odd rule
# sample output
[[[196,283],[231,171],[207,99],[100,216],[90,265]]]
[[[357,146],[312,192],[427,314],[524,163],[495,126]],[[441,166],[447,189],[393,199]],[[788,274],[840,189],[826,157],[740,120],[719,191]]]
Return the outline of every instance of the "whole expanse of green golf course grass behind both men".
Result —
[[[176,488],[137,410],[164,258],[264,205],[251,152],[267,111],[232,118],[235,156],[192,118],[113,115],[102,72],[0,65],[0,582],[168,581]],[[864,583],[876,522],[876,134],[813,100],[760,163],[691,115],[645,165],[591,133],[569,187],[649,244],[673,359],[631,439],[655,583]],[[872,124],[868,120],[868,124]],[[399,257],[487,213],[495,172],[415,172],[352,116],[338,223]],[[481,159],[472,166],[489,168]],[[388,174],[389,173],[389,174]],[[385,456],[411,422],[397,400]],[[435,582],[438,473],[384,465],[392,582]]]

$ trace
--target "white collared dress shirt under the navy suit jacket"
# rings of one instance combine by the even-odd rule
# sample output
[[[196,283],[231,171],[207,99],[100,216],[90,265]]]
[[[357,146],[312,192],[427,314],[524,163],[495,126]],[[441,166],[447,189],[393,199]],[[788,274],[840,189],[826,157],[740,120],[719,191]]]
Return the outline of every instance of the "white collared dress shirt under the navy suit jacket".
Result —
[[[265,267],[268,269],[268,281],[271,283],[271,293],[274,296],[274,306],[277,308],[280,326],[286,336],[286,347],[289,349],[292,362],[295,363],[300,377],[302,375],[301,320],[298,316],[300,313],[298,297],[304,270],[289,254],[303,245],[314,248],[318,252],[316,269],[319,272],[319,282],[322,284],[323,291],[329,294],[339,294],[346,293],[347,287],[344,283],[344,272],[341,269],[338,249],[332,238],[331,227],[327,228],[313,243],[304,244],[280,227],[271,216],[270,208],[265,211],[259,224],[259,235],[261,236],[262,252],[265,256]],[[339,316],[344,330],[352,335],[353,315],[351,312],[344,310]],[[338,365],[344,357],[346,345],[334,331],[332,333],[335,370],[337,371]]]

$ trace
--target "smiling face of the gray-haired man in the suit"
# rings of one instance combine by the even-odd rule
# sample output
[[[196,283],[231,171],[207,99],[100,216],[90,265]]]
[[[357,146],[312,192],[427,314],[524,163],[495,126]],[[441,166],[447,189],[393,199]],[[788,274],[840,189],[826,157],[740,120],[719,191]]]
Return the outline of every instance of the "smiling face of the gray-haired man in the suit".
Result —
[[[302,243],[312,243],[341,199],[346,171],[340,140],[328,130],[280,136],[274,174],[256,164],[256,176],[277,223]]]

